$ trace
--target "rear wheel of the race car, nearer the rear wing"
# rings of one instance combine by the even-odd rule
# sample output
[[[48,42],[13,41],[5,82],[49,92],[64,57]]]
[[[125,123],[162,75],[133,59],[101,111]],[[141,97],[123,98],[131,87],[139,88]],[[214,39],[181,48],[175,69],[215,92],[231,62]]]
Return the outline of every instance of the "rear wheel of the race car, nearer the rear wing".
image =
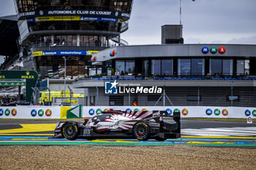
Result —
[[[138,122],[132,128],[133,136],[140,141],[148,140],[150,136],[150,128],[147,123]]]

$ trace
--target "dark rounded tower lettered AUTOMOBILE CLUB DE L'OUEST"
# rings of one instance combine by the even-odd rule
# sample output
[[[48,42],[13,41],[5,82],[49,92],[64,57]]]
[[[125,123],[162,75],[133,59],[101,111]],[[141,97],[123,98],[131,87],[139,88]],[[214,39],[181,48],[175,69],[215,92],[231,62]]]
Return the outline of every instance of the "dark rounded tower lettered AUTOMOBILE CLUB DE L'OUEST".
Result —
[[[16,0],[20,61],[41,79],[67,79],[101,74],[91,55],[127,45],[132,0]]]

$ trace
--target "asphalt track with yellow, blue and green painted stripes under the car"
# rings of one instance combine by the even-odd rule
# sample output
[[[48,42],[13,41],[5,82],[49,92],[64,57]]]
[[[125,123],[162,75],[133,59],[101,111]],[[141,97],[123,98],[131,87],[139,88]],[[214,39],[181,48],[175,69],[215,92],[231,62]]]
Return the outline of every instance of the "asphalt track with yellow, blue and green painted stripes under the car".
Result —
[[[158,142],[149,139],[53,139],[57,121],[0,120],[0,145],[118,145],[165,146],[173,144],[204,147],[241,147],[256,149],[256,123],[234,123],[200,120],[181,120],[181,138]]]

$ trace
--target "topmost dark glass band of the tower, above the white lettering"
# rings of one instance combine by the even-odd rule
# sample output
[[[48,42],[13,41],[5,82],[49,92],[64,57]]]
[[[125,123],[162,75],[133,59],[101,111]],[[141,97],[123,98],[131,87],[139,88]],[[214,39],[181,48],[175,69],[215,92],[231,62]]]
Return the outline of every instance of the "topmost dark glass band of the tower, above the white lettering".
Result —
[[[130,13],[131,0],[16,0],[19,12],[50,9],[95,9]]]

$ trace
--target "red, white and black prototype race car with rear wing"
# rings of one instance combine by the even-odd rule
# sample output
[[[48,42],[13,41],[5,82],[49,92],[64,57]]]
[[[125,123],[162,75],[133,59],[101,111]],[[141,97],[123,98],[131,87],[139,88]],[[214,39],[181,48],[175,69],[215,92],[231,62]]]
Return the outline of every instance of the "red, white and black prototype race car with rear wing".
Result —
[[[180,117],[180,112],[168,116],[167,111],[110,110],[84,122],[61,121],[57,123],[53,137],[69,140],[135,138],[164,141],[181,136]]]

